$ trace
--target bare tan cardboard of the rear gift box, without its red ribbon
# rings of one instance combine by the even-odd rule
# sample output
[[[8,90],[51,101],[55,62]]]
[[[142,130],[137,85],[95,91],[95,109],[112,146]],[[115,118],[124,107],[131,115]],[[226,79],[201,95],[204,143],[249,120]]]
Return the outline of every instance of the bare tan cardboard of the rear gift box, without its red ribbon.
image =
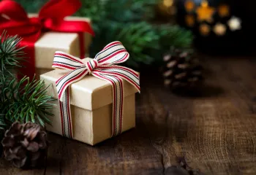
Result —
[[[37,17],[37,14],[29,14],[29,18]],[[67,17],[64,20],[79,20],[86,21],[91,24],[89,18],[80,17]],[[84,33],[84,46],[86,55],[89,56],[89,46],[91,44],[91,34]],[[40,74],[44,74],[52,69],[53,55],[58,51],[67,52],[71,55],[80,57],[79,36],[75,33],[61,33],[48,31],[37,40],[34,44],[35,47],[35,66],[36,74],[39,77]]]

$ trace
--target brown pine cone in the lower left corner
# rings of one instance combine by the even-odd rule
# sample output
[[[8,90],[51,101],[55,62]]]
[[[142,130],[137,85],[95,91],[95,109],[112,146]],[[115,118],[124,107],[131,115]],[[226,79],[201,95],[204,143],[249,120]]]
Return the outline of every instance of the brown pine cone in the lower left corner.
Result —
[[[35,123],[15,122],[1,141],[4,157],[18,168],[39,166],[48,149],[47,133]]]

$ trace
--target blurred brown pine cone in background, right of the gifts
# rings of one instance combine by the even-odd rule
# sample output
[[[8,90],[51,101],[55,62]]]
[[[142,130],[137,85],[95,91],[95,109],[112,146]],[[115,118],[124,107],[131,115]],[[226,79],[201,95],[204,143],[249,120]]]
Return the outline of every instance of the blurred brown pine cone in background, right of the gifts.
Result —
[[[177,88],[194,88],[203,80],[203,67],[192,58],[192,52],[172,49],[163,60],[165,85],[173,90]]]

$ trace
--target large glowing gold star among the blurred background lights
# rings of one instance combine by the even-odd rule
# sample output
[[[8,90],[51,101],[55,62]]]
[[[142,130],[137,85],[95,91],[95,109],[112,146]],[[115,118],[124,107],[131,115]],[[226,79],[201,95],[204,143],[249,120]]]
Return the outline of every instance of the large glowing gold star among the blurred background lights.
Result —
[[[208,6],[207,1],[202,1],[201,6],[197,8],[197,20],[212,22],[212,15],[214,15],[215,9]]]

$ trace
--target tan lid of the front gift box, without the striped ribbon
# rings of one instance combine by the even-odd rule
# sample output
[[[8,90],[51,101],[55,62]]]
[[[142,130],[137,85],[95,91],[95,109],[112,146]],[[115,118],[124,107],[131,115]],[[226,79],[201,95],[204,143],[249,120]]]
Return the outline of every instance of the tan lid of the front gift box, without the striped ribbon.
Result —
[[[49,85],[48,95],[58,98],[55,82],[64,74],[67,74],[66,70],[56,69],[40,75],[40,79],[45,81],[45,85]],[[124,80],[124,97],[137,92],[133,85]],[[71,85],[70,104],[72,105],[87,110],[94,110],[112,104],[112,101],[113,96],[110,83],[97,77],[86,75],[83,79]]]

